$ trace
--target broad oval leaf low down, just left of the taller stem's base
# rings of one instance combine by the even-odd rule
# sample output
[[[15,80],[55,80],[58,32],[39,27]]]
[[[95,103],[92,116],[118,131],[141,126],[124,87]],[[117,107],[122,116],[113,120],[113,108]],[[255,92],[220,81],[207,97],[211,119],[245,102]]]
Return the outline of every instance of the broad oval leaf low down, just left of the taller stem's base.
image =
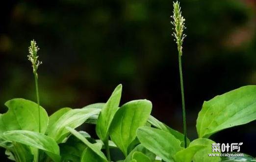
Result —
[[[173,162],[173,155],[182,149],[179,139],[160,129],[140,127],[137,137],[144,147],[166,162]]]

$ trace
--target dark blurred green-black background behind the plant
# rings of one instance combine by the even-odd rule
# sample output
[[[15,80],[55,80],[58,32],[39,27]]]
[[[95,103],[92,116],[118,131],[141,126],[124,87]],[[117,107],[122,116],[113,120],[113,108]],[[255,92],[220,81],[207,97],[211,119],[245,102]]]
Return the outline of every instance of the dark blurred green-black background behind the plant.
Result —
[[[183,77],[190,139],[205,100],[256,84],[256,0],[180,0],[187,38]],[[30,40],[37,41],[39,89],[49,115],[105,102],[123,84],[121,104],[147,98],[153,115],[182,132],[172,0],[8,0],[0,5],[0,112],[15,97],[36,101]],[[243,142],[256,156],[256,122],[211,139]],[[93,130],[87,130],[93,132]],[[4,156],[4,151],[1,151]],[[1,161],[5,161],[2,158]]]

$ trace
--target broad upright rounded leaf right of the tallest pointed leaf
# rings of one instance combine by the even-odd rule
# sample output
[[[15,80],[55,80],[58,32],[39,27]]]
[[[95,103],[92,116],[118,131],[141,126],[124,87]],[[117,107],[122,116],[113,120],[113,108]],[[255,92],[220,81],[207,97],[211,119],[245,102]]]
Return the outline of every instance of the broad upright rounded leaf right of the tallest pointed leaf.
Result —
[[[150,116],[149,100],[134,100],[124,104],[114,116],[110,126],[111,140],[128,155],[128,146],[136,138],[136,130],[144,126]]]

